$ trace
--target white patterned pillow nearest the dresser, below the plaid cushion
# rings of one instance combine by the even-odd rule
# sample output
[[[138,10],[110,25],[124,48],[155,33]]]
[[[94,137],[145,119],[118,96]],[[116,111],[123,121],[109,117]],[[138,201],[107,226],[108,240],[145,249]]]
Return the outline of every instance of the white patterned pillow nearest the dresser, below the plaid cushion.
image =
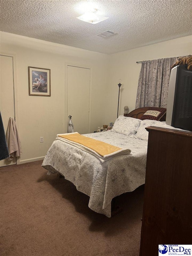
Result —
[[[142,120],[140,123],[140,127],[138,128],[137,133],[134,135],[134,137],[141,140],[148,140],[149,132],[145,128],[150,125],[158,126],[162,124],[160,121],[156,120]]]

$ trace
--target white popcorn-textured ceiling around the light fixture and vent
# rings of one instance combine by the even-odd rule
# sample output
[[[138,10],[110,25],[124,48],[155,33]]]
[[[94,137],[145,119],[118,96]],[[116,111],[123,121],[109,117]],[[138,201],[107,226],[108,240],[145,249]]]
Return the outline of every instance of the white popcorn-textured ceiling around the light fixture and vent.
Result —
[[[192,34],[191,0],[0,0],[1,31],[100,53],[117,53]],[[76,19],[92,2],[109,19]],[[108,38],[98,33],[116,32]]]

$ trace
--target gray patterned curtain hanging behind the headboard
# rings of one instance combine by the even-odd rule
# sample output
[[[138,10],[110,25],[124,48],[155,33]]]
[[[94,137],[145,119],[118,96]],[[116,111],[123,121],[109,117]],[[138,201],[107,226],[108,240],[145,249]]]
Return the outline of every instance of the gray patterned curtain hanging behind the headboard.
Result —
[[[167,107],[171,66],[177,57],[142,61],[135,108]]]

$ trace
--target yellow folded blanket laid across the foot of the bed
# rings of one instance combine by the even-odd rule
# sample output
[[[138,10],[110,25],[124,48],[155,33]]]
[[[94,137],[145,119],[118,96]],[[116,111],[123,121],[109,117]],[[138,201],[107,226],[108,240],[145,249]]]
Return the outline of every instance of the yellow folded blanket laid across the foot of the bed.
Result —
[[[122,151],[123,149],[110,145],[108,143],[102,142],[100,140],[95,140],[92,138],[85,137],[79,133],[71,134],[58,134],[58,137],[79,143],[89,149],[94,150],[101,156],[110,155],[114,152]],[[124,150],[123,150],[124,151]],[[131,152],[131,150],[130,150]]]

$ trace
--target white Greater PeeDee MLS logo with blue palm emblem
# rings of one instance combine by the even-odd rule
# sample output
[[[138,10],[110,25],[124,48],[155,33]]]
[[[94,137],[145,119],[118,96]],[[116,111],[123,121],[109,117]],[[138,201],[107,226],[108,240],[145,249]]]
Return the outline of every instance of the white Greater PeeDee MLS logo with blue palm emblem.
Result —
[[[192,255],[192,245],[159,245],[159,256]]]

